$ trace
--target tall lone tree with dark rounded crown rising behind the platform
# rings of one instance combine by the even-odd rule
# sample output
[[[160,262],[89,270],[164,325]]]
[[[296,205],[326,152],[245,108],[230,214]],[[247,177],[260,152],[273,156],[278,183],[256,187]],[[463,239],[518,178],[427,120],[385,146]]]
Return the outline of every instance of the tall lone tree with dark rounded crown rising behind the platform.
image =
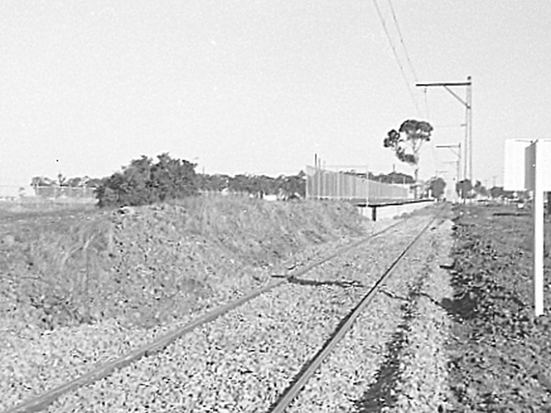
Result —
[[[400,125],[398,131],[396,129],[388,131],[386,138],[384,138],[384,147],[392,148],[399,160],[415,168],[415,182],[419,178],[419,150],[423,142],[430,140],[432,131],[433,127],[430,123],[424,120],[409,119]],[[415,192],[417,198],[417,191]]]

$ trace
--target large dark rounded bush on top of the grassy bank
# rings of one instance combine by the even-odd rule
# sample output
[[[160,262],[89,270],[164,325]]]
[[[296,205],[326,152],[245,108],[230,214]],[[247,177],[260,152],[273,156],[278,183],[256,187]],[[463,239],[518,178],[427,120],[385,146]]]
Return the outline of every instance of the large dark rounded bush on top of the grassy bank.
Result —
[[[158,162],[142,156],[123,171],[104,178],[94,192],[99,207],[123,207],[154,204],[196,195],[195,164],[172,159],[168,153],[157,156]]]

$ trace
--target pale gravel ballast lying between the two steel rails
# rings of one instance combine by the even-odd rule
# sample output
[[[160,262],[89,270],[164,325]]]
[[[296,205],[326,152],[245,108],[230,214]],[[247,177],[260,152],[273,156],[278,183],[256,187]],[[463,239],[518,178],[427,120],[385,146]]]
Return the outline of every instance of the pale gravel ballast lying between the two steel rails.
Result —
[[[8,412],[283,411],[289,383],[429,220],[335,251]],[[360,246],[369,247],[362,259]]]

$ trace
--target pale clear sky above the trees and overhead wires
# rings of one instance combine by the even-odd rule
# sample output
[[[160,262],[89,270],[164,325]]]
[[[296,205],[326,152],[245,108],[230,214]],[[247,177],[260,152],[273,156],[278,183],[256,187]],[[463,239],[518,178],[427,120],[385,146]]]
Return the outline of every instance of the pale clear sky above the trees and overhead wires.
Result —
[[[3,0],[0,184],[162,152],[207,173],[297,173],[314,153],[412,173],[382,147],[408,118],[435,127],[428,178],[455,170],[435,145],[463,140],[465,111],[415,82],[469,75],[473,176],[501,184],[503,140],[551,136],[551,1],[377,4],[404,74],[372,0]]]

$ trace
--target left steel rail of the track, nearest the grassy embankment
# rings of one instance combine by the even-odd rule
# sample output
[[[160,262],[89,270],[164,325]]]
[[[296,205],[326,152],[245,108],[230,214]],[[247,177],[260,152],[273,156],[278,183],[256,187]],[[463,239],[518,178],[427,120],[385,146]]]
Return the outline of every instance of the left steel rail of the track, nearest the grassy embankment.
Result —
[[[335,251],[334,253],[331,253],[330,255],[326,255],[326,257],[323,257],[320,260],[316,260],[315,262],[308,264],[303,268],[300,268],[298,271],[293,271],[292,274],[285,275],[283,279],[280,279],[277,282],[272,282],[271,284],[258,288],[257,290],[253,290],[250,293],[247,293],[246,295],[244,295],[243,297],[240,297],[239,299],[229,302],[228,304],[219,306],[214,310],[211,310],[209,313],[194,319],[193,321],[189,322],[185,326],[182,326],[180,328],[176,328],[175,330],[167,332],[165,335],[158,337],[154,341],[146,343],[143,346],[140,346],[135,350],[132,350],[131,352],[128,352],[127,354],[124,354],[121,357],[118,357],[118,359],[114,359],[113,361],[110,361],[101,366],[98,366],[97,368],[94,368],[94,370],[87,372],[81,375],[80,377],[77,377],[76,379],[68,381],[65,384],[56,386],[55,388],[48,390],[47,392],[41,394],[40,396],[33,397],[31,399],[23,401],[18,405],[15,405],[14,407],[11,407],[10,409],[6,410],[4,413],[40,412],[41,410],[44,410],[46,407],[48,407],[48,405],[54,403],[56,399],[59,399],[59,397],[63,396],[63,394],[72,392],[73,390],[76,390],[77,388],[81,388],[84,385],[92,384],[95,381],[105,379],[105,377],[110,376],[110,374],[112,374],[114,371],[120,370],[121,368],[129,366],[130,364],[135,363],[142,357],[147,357],[151,354],[155,354],[156,352],[160,352],[161,350],[167,348],[169,344],[173,343],[180,337],[183,337],[184,335],[191,332],[192,330],[195,330],[200,326],[203,326],[211,321],[214,321],[215,319],[224,315],[225,313],[228,313],[229,311],[235,308],[238,308],[242,304],[245,304],[247,301],[250,301],[251,299],[258,297],[261,294],[267,293],[269,290],[272,290],[273,288],[276,288],[284,283],[287,283],[288,279],[290,278],[296,279],[298,277],[301,277],[302,275],[311,271],[313,268],[320,266],[325,262],[328,262],[329,260],[337,257],[338,255],[342,255],[343,253],[346,253],[347,251],[350,251],[351,249],[356,248],[357,246],[366,244],[370,240],[373,240],[373,238],[383,235],[384,233],[390,231],[391,229],[395,228],[395,226],[398,226],[403,222],[406,222],[406,219],[399,220],[395,224],[389,225],[386,228],[382,229],[381,231],[378,231],[376,233],[373,233],[371,235],[364,237],[362,240],[359,240],[357,242],[352,242],[351,244],[348,244],[341,248],[337,248],[337,251]]]

